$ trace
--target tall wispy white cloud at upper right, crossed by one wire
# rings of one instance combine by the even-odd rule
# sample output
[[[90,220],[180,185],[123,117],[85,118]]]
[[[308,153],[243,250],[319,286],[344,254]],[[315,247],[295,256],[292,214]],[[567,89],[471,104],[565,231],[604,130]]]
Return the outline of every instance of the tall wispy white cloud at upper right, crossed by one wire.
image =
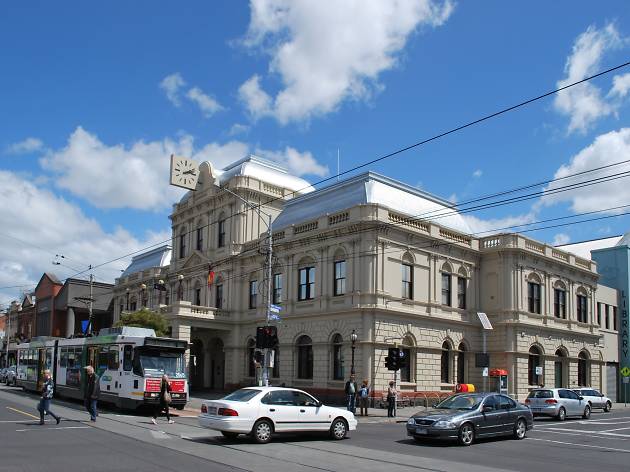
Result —
[[[600,70],[603,55],[623,44],[615,26],[611,23],[602,29],[589,26],[575,40],[573,51],[565,65],[566,77],[558,87],[577,82]],[[570,118],[568,132],[586,132],[598,119],[614,114],[616,107],[602,98],[599,87],[591,82],[576,85],[558,93],[555,109]]]

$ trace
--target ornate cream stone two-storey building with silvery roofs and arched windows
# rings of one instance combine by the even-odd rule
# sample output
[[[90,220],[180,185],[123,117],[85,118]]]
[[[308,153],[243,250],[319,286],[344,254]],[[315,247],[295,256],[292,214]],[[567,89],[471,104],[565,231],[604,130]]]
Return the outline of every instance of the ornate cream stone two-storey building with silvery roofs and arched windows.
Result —
[[[193,386],[256,381],[267,215],[271,297],[282,307],[273,384],[338,396],[355,332],[357,379],[376,395],[393,378],[385,357],[394,345],[410,360],[398,374],[403,395],[452,391],[458,382],[482,389],[475,355],[483,351],[477,312],[485,312],[490,368],[509,372],[511,395],[522,399],[540,384],[606,385],[602,366],[615,337],[596,314],[617,297],[598,286],[594,262],[519,234],[477,238],[448,201],[382,175],[314,190],[249,156],[223,170],[203,163],[196,191],[173,206],[168,264],[155,255],[135,261],[116,283],[115,318],[134,297],[191,343]],[[167,293],[153,288],[158,279]]]

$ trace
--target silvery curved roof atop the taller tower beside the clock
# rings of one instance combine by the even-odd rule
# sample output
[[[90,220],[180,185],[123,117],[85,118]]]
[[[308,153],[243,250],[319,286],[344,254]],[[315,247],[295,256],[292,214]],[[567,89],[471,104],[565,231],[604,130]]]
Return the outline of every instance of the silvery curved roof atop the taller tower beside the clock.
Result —
[[[306,180],[289,174],[286,167],[269,159],[250,154],[224,169],[213,169],[217,185],[221,186],[233,177],[253,177],[276,187],[282,187],[298,194],[314,191],[313,186]],[[184,203],[192,196],[192,191],[186,192],[180,203]]]

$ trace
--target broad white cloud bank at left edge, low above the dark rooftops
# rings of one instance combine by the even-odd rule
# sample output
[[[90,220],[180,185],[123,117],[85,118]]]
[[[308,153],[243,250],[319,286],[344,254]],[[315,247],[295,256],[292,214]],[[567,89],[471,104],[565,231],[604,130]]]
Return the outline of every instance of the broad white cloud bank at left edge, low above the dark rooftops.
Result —
[[[106,232],[75,205],[8,171],[0,171],[0,221],[19,221],[4,225],[0,235],[0,287],[21,286],[0,289],[2,304],[19,298],[22,289],[32,289],[45,271],[62,279],[74,275],[68,267],[51,264],[54,254],[63,254],[64,263],[82,270],[170,238],[168,228],[142,239],[120,227]],[[112,282],[128,263],[129,259],[121,260],[99,268],[96,278]]]

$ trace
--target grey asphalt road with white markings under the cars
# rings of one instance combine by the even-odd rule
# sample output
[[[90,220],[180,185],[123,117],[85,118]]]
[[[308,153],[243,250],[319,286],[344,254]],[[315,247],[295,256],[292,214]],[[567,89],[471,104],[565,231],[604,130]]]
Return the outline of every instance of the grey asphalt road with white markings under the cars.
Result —
[[[0,387],[0,471],[531,471],[627,470],[630,409],[594,413],[591,420],[537,420],[523,441],[483,440],[464,448],[418,444],[404,424],[360,424],[344,441],[321,435],[281,437],[257,445],[229,441],[197,426],[194,414],[162,419],[103,411],[91,424],[81,405],[54,402],[63,418],[39,426],[37,398]],[[198,468],[198,469],[196,469]],[[203,469],[202,469],[203,468]]]

